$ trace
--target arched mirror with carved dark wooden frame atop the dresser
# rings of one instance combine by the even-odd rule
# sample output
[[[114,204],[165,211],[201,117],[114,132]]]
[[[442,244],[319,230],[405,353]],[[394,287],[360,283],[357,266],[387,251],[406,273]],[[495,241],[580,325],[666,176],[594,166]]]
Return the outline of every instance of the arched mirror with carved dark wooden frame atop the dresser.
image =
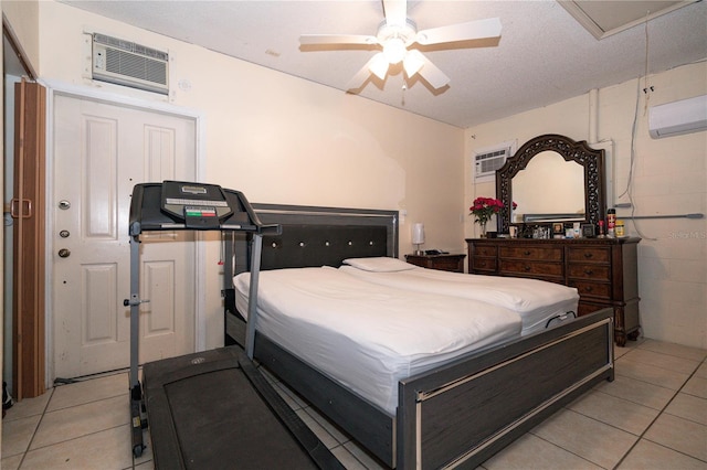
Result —
[[[510,207],[498,217],[498,232],[510,224],[580,222],[597,224],[604,212],[604,151],[559,135],[524,143],[496,172],[496,194]]]

